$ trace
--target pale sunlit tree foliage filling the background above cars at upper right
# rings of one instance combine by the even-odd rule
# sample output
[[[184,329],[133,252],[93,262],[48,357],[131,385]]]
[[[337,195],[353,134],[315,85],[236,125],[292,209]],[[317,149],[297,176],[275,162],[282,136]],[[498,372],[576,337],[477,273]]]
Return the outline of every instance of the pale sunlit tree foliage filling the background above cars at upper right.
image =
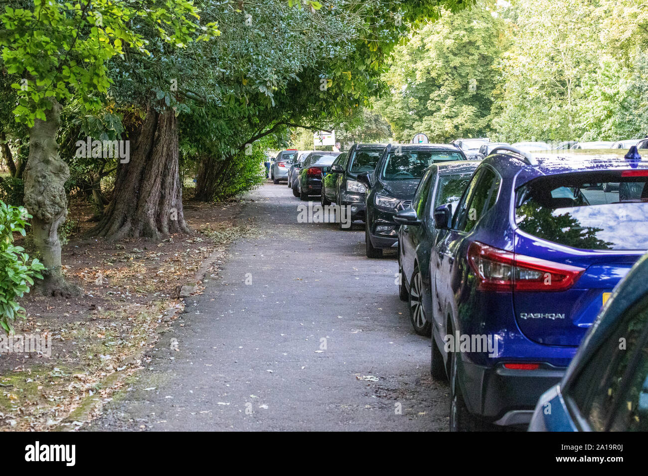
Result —
[[[648,16],[634,0],[480,1],[397,47],[378,110],[396,139],[637,139]],[[472,87],[470,86],[472,84]]]

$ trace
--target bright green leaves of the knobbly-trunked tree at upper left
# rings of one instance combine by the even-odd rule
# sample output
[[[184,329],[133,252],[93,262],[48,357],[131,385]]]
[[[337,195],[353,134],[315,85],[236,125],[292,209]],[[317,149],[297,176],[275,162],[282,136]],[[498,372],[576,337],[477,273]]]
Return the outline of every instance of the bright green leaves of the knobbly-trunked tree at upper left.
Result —
[[[7,73],[21,79],[14,115],[19,122],[34,125],[45,120],[52,99],[67,100],[76,93],[88,109],[102,105],[110,78],[107,62],[123,55],[130,45],[150,54],[150,41],[135,25],[146,23],[162,41],[183,47],[198,28],[198,14],[188,0],[173,3],[128,0],[74,2],[5,0],[0,10],[0,47]],[[8,5],[7,5],[8,4]],[[201,39],[214,34],[205,26]]]

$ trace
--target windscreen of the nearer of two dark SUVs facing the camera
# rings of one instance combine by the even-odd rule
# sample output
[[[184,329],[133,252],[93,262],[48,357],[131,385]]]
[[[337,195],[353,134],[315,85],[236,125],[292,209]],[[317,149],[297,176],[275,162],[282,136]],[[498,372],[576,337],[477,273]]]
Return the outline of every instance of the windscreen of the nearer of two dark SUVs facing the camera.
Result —
[[[382,170],[382,179],[408,180],[421,179],[425,170],[437,162],[460,161],[463,155],[447,150],[399,151],[393,148]]]

